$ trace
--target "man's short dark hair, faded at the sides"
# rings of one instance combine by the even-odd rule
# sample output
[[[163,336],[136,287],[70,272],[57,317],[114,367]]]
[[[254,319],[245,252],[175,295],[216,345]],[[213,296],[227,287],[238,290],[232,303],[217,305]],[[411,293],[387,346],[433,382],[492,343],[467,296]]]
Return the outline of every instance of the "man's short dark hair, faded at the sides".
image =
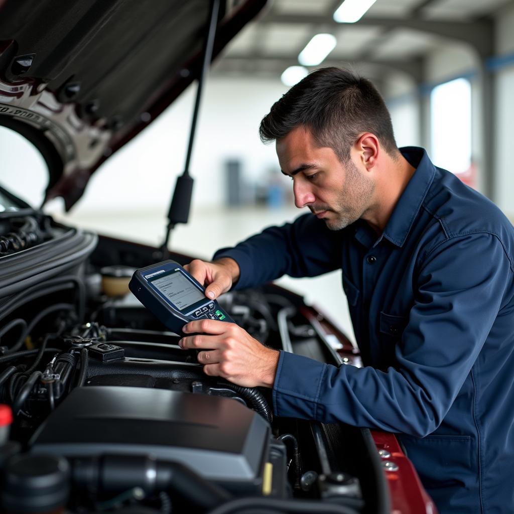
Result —
[[[350,159],[352,144],[364,132],[377,136],[388,154],[398,153],[380,93],[368,79],[346,69],[317,69],[292,86],[263,118],[259,135],[270,142],[301,125],[320,146],[332,148],[341,162]]]

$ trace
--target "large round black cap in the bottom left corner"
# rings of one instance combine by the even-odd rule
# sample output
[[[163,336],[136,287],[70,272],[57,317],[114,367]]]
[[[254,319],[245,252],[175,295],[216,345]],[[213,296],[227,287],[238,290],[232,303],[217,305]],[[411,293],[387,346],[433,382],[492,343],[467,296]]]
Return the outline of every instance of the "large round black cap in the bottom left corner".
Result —
[[[64,458],[18,454],[7,461],[2,512],[48,512],[64,507],[68,497],[69,465]]]

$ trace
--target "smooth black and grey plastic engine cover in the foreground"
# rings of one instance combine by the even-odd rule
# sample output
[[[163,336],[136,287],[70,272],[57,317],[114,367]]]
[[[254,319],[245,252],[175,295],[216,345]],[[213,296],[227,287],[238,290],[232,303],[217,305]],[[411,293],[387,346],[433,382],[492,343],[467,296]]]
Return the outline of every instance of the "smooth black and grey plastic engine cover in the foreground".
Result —
[[[74,389],[30,443],[66,457],[153,455],[218,483],[259,487],[270,427],[230,398],[136,387]]]

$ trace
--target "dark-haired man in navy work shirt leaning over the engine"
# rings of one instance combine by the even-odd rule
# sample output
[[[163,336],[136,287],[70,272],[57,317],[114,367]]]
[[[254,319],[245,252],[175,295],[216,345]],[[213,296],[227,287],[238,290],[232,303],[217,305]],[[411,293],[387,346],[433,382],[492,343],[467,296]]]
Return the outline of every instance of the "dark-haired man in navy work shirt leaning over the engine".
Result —
[[[232,286],[341,268],[364,368],[261,345],[194,321],[207,375],[273,388],[279,416],[398,433],[440,512],[513,512],[514,229],[418,148],[398,150],[374,86],[326,68],[262,120],[295,204],[271,227],[189,270],[216,298]]]

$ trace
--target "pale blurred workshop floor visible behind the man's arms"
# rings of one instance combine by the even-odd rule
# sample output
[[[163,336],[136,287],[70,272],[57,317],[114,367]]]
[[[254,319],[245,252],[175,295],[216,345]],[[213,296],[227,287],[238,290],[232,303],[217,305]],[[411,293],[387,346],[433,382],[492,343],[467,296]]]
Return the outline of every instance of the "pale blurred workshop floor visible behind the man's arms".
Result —
[[[237,208],[191,212],[187,225],[179,225],[172,234],[170,248],[209,260],[218,248],[233,246],[247,236],[270,225],[281,225],[300,214],[295,208]],[[65,224],[95,232],[159,245],[166,226],[162,212],[88,212],[54,215]],[[303,295],[308,304],[316,305],[343,332],[355,341],[346,298],[341,286],[341,272],[321,277],[292,279],[283,277],[277,284]]]

